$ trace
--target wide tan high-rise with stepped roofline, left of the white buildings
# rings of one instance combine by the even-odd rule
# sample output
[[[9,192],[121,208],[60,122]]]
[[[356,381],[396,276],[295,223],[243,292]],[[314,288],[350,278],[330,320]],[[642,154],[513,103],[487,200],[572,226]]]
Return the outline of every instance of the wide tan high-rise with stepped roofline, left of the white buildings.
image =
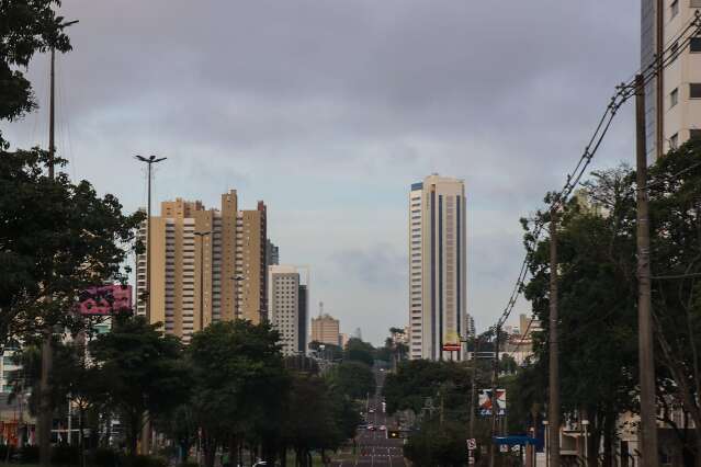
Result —
[[[146,242],[146,223],[139,231]],[[238,210],[235,190],[221,209],[181,198],[161,203],[151,217],[151,322],[190,340],[212,322],[260,322],[267,312],[265,205]],[[137,259],[137,297],[146,291],[146,254]],[[144,300],[137,314],[146,314]]]

